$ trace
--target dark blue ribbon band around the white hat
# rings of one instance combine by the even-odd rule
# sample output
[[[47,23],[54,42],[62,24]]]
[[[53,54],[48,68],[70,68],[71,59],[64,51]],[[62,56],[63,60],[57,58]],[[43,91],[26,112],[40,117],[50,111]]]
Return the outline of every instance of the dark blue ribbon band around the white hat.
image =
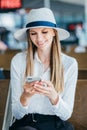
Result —
[[[56,24],[48,21],[36,21],[28,23],[26,25],[26,27],[37,27],[37,26],[57,27]]]

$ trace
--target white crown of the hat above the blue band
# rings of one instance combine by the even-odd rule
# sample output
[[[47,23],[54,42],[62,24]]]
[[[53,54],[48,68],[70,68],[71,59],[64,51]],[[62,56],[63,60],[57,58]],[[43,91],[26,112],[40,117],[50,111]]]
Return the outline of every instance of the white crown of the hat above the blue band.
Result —
[[[32,9],[28,14],[27,23],[35,21],[49,21],[56,24],[54,14],[48,8]]]

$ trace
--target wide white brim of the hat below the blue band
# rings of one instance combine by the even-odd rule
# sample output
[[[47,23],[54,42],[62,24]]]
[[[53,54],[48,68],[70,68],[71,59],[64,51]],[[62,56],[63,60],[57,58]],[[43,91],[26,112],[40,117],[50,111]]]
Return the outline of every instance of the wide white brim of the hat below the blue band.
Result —
[[[36,28],[39,28],[39,27],[44,27],[44,26],[38,26]],[[29,28],[23,28],[23,29],[17,30],[14,33],[15,39],[17,39],[18,41],[26,42],[27,41],[27,33],[26,33],[26,31],[28,29],[30,29],[30,28],[35,28],[35,27],[29,27]],[[49,28],[49,27],[45,27],[45,28]],[[59,37],[60,41],[65,40],[70,36],[70,33],[65,29],[62,29],[62,28],[53,28],[53,29],[57,30],[58,37]]]

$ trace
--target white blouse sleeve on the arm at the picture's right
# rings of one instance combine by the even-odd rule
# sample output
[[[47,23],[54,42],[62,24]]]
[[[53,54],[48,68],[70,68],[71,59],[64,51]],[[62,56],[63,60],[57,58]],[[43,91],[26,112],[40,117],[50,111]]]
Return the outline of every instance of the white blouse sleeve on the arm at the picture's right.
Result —
[[[68,67],[68,66],[67,66]],[[78,77],[78,64],[75,59],[68,67],[65,74],[64,92],[59,95],[59,101],[53,105],[53,111],[62,120],[67,120],[71,117],[74,107],[75,90]]]

